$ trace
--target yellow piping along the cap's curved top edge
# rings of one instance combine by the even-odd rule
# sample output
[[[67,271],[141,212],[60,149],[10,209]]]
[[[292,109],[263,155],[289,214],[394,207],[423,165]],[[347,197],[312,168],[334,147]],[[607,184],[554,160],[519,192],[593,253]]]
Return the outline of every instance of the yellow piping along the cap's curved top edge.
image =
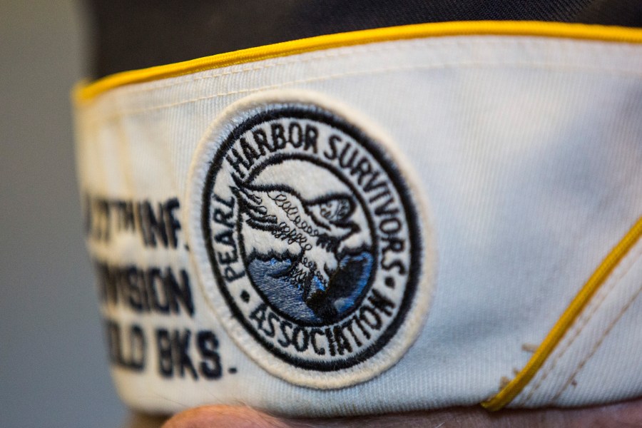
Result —
[[[210,68],[232,66],[278,56],[302,54],[320,49],[354,46],[380,41],[464,35],[542,36],[642,43],[642,29],[629,29],[618,26],[564,24],[560,22],[539,21],[462,21],[414,24],[285,41],[283,43],[243,49],[226,54],[205,56],[203,58],[165,66],[123,71],[122,73],[100,78],[93,83],[78,83],[73,90],[73,98],[76,102],[83,102],[91,100],[105,91],[132,83],[154,81],[161,78],[209,70]]]

